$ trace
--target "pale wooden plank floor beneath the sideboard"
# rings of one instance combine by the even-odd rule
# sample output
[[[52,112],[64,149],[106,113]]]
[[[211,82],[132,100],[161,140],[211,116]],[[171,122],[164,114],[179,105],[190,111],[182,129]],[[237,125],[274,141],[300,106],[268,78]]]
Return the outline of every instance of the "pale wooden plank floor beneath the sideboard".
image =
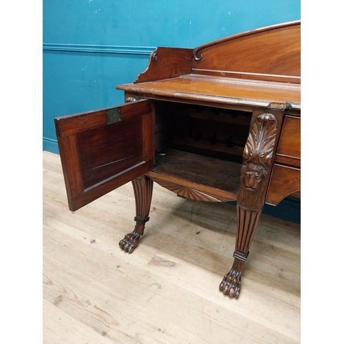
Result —
[[[43,343],[300,343],[300,226],[262,215],[238,300],[219,292],[233,263],[230,204],[154,185],[130,255],[131,184],[72,213],[58,155],[43,152]]]

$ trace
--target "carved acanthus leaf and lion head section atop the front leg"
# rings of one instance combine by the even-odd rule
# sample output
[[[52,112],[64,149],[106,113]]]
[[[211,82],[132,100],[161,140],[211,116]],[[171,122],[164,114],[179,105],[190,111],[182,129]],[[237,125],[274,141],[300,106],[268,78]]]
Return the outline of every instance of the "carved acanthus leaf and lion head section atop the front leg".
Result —
[[[238,204],[257,209],[264,205],[269,169],[275,152],[277,120],[260,114],[250,129],[245,144]]]

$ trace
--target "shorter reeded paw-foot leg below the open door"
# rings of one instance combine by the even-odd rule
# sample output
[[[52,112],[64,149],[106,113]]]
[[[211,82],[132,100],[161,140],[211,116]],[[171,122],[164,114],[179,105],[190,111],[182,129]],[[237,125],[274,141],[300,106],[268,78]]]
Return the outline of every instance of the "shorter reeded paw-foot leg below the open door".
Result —
[[[125,235],[119,245],[125,252],[133,252],[138,247],[140,236],[144,233],[144,226],[149,221],[149,209],[151,208],[151,197],[153,193],[153,180],[145,175],[132,181],[133,193],[136,204],[135,229]]]

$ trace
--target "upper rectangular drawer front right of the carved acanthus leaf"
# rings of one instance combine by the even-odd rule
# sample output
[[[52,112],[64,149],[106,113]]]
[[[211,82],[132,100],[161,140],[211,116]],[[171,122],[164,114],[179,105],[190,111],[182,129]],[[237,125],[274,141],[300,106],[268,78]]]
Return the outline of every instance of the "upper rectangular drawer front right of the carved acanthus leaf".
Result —
[[[283,122],[277,155],[301,158],[301,119],[286,116]]]

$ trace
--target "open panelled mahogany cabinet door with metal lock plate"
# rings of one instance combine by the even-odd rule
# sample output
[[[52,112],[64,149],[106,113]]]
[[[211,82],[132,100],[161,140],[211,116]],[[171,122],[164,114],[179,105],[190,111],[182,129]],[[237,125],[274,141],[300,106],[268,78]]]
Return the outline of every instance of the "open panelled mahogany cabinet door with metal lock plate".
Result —
[[[153,169],[151,100],[55,118],[69,209]]]

